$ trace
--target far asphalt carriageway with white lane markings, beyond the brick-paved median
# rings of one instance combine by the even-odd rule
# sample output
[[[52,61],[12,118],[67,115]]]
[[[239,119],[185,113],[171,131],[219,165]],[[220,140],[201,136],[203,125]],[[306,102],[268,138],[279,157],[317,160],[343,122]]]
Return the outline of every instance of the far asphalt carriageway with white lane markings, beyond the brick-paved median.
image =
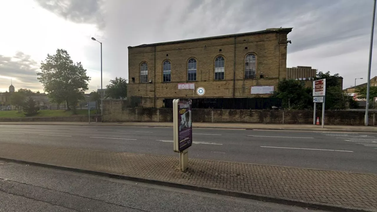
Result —
[[[173,129],[0,125],[0,142],[177,156]],[[377,174],[377,134],[193,129],[190,158]]]

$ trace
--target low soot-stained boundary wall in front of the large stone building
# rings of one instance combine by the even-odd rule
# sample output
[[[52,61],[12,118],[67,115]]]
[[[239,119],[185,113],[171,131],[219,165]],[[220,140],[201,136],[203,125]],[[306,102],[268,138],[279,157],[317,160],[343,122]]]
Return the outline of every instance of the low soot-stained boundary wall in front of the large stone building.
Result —
[[[122,101],[104,101],[104,121],[173,121],[171,108],[125,108]],[[364,112],[326,111],[325,123],[334,125],[363,125]],[[321,116],[320,111],[317,116]],[[369,124],[374,125],[374,114],[369,113]],[[274,111],[274,110],[223,110],[193,109],[194,122],[234,122],[266,124],[313,124],[313,111]],[[377,119],[377,116],[375,117]]]

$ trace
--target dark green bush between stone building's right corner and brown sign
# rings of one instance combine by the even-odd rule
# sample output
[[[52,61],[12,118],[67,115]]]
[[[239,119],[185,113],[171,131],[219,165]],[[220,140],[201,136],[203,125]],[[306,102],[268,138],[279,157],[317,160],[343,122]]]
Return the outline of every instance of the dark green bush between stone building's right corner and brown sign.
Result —
[[[277,84],[277,91],[274,91],[273,97],[282,100],[283,108],[302,110],[311,108],[310,92],[311,88],[305,88],[299,81],[283,79]]]

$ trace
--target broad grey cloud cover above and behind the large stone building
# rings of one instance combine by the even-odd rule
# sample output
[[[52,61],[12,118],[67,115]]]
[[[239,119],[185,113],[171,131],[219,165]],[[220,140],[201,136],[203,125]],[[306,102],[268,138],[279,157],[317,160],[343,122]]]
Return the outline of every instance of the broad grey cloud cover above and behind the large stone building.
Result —
[[[360,71],[366,79],[373,1],[50,0],[40,4],[68,20],[102,26],[104,70],[112,70],[112,77],[127,75],[127,46],[293,27],[288,35],[292,41],[288,67],[320,67],[319,71],[347,76],[344,84]],[[305,60],[300,55],[306,55]]]

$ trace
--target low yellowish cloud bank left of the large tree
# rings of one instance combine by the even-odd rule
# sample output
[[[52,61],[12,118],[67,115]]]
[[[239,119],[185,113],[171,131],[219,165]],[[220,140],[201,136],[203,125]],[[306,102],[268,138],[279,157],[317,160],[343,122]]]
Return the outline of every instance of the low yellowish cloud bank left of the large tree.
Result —
[[[8,90],[11,79],[16,90],[26,88],[42,91],[43,88],[37,80],[38,69],[38,63],[23,52],[17,52],[13,57],[0,55],[0,91]]]

